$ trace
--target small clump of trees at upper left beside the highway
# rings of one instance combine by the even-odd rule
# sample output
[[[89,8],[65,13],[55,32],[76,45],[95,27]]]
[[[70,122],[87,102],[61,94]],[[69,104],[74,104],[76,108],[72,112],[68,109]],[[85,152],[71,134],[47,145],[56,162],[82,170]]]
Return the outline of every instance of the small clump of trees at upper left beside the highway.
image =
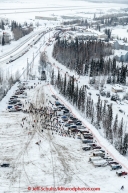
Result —
[[[25,24],[24,28],[21,26],[21,24],[18,24],[15,21],[11,22],[11,31],[14,34],[14,39],[18,40],[22,38],[23,36],[29,34],[33,31],[33,27],[30,25],[28,26],[27,23]]]

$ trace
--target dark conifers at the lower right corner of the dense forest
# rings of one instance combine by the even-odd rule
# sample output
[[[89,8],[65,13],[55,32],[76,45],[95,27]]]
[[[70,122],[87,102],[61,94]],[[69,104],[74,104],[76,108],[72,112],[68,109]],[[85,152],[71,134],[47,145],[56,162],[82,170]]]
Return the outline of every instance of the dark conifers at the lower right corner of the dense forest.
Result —
[[[126,85],[126,77],[128,76],[127,65],[118,66],[116,64],[116,59],[109,59],[104,61],[101,58],[98,61],[92,60],[90,65],[86,64],[84,69],[85,75],[93,77],[91,84],[95,84],[95,77],[100,75],[107,75],[108,84],[123,84]]]

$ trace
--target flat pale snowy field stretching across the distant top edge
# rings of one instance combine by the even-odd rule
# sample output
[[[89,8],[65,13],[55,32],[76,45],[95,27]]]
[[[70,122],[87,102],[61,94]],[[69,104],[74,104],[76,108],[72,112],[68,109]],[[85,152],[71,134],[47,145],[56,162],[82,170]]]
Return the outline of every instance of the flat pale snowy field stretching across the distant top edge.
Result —
[[[35,16],[51,16],[56,15],[57,17],[63,15],[90,17],[93,18],[94,13],[107,14],[113,12],[120,12],[120,8],[128,7],[126,4],[110,3],[92,3],[89,1],[46,1],[37,0],[35,1],[2,1],[0,3],[2,9],[0,12],[1,17],[9,17],[9,19],[17,20],[18,22],[29,21],[35,19]],[[23,12],[23,13],[20,13]],[[28,13],[27,13],[28,12]]]

